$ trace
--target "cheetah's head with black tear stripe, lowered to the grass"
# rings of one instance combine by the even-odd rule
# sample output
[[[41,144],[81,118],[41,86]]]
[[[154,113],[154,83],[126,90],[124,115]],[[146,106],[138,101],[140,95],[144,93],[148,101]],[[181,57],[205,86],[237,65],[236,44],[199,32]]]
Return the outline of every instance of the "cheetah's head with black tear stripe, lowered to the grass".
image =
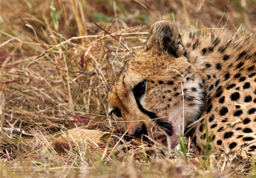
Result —
[[[174,148],[177,135],[203,107],[203,80],[191,66],[177,30],[153,24],[145,47],[131,53],[108,93],[108,111],[125,120],[128,134],[162,139]]]

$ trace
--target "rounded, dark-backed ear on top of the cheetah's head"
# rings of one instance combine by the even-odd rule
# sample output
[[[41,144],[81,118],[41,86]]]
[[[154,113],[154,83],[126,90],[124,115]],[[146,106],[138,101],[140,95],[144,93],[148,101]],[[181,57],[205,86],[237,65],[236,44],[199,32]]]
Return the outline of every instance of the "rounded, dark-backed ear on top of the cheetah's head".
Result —
[[[154,23],[148,32],[146,50],[153,47],[157,47],[160,52],[166,51],[176,58],[185,53],[177,27],[166,20]]]

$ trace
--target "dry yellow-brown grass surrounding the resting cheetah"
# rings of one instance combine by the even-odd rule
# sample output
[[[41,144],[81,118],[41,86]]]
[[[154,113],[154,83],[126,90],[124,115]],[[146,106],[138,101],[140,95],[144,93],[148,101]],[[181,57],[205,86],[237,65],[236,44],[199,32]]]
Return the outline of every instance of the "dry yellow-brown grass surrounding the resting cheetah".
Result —
[[[255,175],[252,159],[131,145],[105,102],[112,62],[145,42],[149,24],[171,19],[232,31],[243,24],[253,33],[255,9],[255,0],[0,1],[1,177]],[[56,135],[76,127],[105,134],[58,146]]]

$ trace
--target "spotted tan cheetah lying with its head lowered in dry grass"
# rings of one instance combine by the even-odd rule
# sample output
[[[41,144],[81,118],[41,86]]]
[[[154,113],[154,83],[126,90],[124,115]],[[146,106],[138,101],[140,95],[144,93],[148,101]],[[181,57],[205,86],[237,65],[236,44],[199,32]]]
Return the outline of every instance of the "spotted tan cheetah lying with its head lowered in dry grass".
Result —
[[[154,23],[145,46],[129,53],[108,92],[108,110],[129,136],[163,138],[174,148],[194,124],[197,148],[255,154],[255,38],[225,30],[179,33]]]

